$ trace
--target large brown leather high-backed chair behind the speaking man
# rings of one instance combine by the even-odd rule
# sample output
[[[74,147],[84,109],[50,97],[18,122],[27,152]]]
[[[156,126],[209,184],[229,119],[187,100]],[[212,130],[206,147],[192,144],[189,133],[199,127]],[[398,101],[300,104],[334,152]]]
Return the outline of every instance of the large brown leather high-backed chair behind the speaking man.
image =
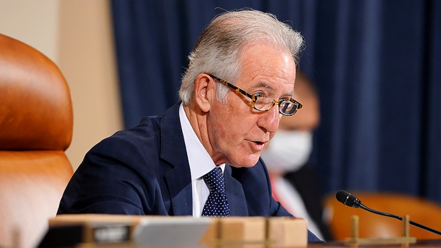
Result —
[[[35,247],[73,174],[69,87],[39,51],[0,34],[0,247]]]

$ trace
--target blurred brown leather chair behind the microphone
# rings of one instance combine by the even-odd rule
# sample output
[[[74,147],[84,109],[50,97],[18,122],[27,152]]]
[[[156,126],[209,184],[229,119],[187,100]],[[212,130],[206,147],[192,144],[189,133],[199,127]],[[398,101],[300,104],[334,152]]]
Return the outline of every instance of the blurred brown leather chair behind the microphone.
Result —
[[[398,216],[409,215],[410,220],[441,231],[441,206],[427,199],[391,193],[351,192],[361,202],[373,210]],[[379,216],[361,208],[343,205],[329,195],[325,201],[325,217],[335,240],[343,241],[351,234],[351,216],[359,216],[359,237],[400,237],[403,223],[397,219]],[[440,239],[416,226],[410,226],[410,236],[417,239]]]

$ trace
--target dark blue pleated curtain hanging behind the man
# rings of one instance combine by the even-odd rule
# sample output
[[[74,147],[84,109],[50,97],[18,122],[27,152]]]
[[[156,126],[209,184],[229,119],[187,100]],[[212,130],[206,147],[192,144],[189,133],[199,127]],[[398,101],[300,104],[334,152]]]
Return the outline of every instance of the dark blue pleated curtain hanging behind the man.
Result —
[[[327,192],[388,191],[441,203],[441,0],[113,0],[124,122],[177,101],[187,55],[224,10],[290,21],[322,121],[312,161]]]

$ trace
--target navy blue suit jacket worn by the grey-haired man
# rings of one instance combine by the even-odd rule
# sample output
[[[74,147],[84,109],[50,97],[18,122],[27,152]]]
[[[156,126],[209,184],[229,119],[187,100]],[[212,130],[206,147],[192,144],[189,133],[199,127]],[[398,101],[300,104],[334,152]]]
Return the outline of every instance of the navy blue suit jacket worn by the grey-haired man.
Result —
[[[291,216],[271,196],[268,171],[225,166],[232,216]],[[192,215],[192,183],[179,104],[102,140],[73,174],[57,214]],[[308,233],[308,241],[319,239]]]

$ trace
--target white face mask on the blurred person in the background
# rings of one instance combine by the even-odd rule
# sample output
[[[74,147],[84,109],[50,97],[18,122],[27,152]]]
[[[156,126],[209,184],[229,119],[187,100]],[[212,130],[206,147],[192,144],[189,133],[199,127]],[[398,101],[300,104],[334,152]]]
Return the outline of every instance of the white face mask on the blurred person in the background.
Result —
[[[262,151],[262,158],[270,173],[283,174],[299,170],[312,151],[310,131],[278,130]]]

